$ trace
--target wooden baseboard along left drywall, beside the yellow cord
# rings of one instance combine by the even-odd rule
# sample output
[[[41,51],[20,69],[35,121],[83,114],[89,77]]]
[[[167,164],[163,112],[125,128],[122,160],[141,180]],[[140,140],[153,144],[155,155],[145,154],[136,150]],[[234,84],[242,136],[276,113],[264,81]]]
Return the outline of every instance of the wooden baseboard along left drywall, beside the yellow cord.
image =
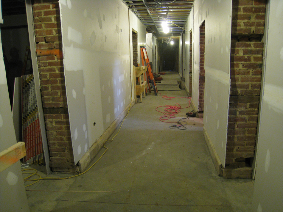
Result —
[[[133,107],[135,104],[135,100],[132,100],[131,104],[129,104],[123,112],[113,121],[113,123],[105,130],[105,132],[94,142],[94,144],[89,148],[89,150],[84,154],[84,156],[80,159],[79,172],[84,172],[87,167],[91,164],[94,157],[99,153],[101,148],[103,147],[103,143],[105,140],[109,139],[116,128],[119,126],[121,121],[126,117],[129,107]]]

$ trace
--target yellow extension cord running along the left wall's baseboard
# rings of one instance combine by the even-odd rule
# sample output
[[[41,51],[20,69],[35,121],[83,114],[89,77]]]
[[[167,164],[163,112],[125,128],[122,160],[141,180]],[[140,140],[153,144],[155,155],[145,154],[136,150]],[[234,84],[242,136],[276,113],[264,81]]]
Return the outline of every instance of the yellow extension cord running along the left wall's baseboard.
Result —
[[[131,98],[131,99],[132,99],[132,98]],[[120,132],[120,130],[121,130],[121,128],[122,128],[122,125],[123,125],[123,123],[124,123],[124,120],[127,118],[128,114],[129,114],[129,112],[130,112],[131,105],[132,105],[132,100],[131,100],[131,102],[130,102],[130,107],[129,107],[129,109],[128,109],[127,115],[126,115],[126,117],[123,119],[122,124],[121,124],[121,126],[120,126],[120,128],[119,128],[119,131],[116,133],[116,135],[118,135],[118,133]],[[108,148],[105,147],[105,142],[106,142],[106,141],[113,141],[113,139],[116,137],[116,135],[115,135],[112,139],[107,139],[107,140],[105,140],[105,141],[103,142],[103,147],[104,147],[106,150],[105,150],[104,153],[100,156],[100,158],[99,158],[94,164],[92,164],[91,167],[89,167],[86,171],[84,171],[83,173],[80,173],[80,174],[78,174],[78,175],[74,175],[74,176],[71,176],[71,177],[67,177],[67,178],[41,178],[41,176],[40,176],[39,174],[37,174],[37,170],[36,170],[36,169],[23,169],[23,170],[22,170],[23,174],[31,174],[31,175],[29,175],[28,177],[24,178],[24,181],[35,181],[34,183],[31,183],[31,184],[29,184],[29,185],[27,185],[27,186],[25,186],[25,187],[31,186],[31,185],[33,185],[33,184],[39,182],[39,180],[63,180],[63,179],[69,179],[69,178],[78,177],[78,176],[80,176],[80,175],[85,174],[86,172],[88,172],[89,169],[91,169],[91,168],[102,158],[102,156],[103,156],[103,155],[106,153],[106,151],[108,150]],[[24,171],[28,171],[28,170],[34,170],[35,172],[34,172],[34,173],[32,173],[32,172],[24,172]],[[33,175],[38,175],[39,178],[33,179],[33,180],[29,180],[29,178],[31,178]]]

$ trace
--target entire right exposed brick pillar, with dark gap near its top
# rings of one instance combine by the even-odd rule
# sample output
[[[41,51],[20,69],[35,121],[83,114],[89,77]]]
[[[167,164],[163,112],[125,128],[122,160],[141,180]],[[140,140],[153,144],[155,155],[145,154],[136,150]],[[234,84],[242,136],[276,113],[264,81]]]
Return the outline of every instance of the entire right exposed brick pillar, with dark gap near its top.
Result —
[[[223,173],[227,178],[251,178],[248,162],[254,157],[256,144],[265,1],[233,0],[232,5],[231,88]]]

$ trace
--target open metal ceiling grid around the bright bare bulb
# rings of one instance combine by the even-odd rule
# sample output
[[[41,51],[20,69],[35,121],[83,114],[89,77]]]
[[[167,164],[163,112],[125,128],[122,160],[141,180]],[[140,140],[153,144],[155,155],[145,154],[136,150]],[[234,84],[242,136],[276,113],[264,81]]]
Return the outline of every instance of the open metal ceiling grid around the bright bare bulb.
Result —
[[[194,0],[122,0],[156,37],[178,37],[184,31]],[[167,20],[170,32],[165,34],[161,23]]]

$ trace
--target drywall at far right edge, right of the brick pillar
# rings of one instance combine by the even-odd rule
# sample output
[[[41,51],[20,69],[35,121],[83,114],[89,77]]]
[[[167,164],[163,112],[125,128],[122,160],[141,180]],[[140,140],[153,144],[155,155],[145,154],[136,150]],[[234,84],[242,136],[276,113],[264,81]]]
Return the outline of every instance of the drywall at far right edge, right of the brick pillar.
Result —
[[[283,208],[283,26],[278,21],[283,20],[283,1],[268,1],[267,8],[267,44],[253,212],[275,212]]]

